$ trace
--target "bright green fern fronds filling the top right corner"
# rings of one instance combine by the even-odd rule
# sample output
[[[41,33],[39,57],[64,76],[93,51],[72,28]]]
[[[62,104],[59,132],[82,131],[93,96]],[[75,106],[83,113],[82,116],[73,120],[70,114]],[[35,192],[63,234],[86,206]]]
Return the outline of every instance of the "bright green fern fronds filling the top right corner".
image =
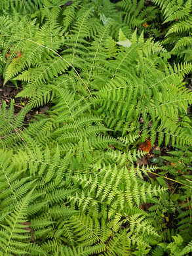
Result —
[[[191,0],[153,0],[161,7],[164,23],[168,24],[164,43],[172,48],[172,54],[179,54],[183,60],[191,61]]]

